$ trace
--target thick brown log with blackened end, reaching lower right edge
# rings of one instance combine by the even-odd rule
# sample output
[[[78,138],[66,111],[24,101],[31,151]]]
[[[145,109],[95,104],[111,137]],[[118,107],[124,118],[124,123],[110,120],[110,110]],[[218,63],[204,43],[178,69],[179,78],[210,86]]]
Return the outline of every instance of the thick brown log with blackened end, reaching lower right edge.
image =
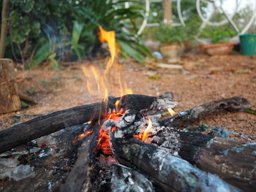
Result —
[[[199,133],[177,132],[180,135],[181,158],[205,172],[217,174],[227,183],[243,191],[256,186],[256,144],[211,137]]]

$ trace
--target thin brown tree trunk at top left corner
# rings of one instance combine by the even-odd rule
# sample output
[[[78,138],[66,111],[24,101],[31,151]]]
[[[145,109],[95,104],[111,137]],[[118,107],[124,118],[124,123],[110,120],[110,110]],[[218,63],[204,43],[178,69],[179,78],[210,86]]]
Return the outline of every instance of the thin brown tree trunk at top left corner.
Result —
[[[3,1],[1,10],[1,37],[0,37],[0,58],[4,58],[5,40],[7,37],[7,8],[8,0]]]

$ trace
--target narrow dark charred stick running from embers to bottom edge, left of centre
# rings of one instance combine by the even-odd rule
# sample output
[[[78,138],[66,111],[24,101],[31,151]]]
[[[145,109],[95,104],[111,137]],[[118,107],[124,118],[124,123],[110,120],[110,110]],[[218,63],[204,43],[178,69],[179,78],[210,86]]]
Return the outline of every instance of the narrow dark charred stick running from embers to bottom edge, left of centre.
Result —
[[[83,139],[75,165],[66,182],[60,186],[61,192],[78,192],[81,191],[83,185],[86,185],[87,189],[91,187],[89,172],[93,166],[92,153],[94,147],[97,146],[97,138],[99,137],[99,125],[97,123],[91,123],[91,125],[94,125],[94,130],[88,137]]]

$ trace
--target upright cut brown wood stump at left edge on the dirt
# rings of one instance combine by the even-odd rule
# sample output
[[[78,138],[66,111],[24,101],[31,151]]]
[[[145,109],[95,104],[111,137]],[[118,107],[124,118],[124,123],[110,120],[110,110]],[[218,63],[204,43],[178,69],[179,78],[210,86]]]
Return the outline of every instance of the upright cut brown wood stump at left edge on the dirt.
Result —
[[[0,114],[20,109],[20,98],[12,60],[0,59]]]

